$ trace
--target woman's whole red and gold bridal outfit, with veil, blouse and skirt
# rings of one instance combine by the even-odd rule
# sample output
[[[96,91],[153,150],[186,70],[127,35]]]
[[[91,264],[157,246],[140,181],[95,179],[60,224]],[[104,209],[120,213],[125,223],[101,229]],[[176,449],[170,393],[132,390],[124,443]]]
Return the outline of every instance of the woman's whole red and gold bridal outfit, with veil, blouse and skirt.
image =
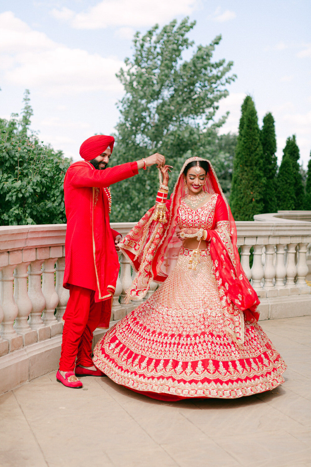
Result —
[[[160,400],[249,396],[284,382],[286,364],[257,323],[259,300],[242,270],[235,222],[209,161],[203,189],[212,197],[196,209],[187,204],[183,170],[200,160],[188,159],[180,171],[166,202],[167,222],[153,220],[153,206],[122,240],[138,271],[131,299],[144,297],[151,280],[161,286],[94,349],[95,366],[114,382]],[[196,259],[175,235],[183,227],[209,233]]]

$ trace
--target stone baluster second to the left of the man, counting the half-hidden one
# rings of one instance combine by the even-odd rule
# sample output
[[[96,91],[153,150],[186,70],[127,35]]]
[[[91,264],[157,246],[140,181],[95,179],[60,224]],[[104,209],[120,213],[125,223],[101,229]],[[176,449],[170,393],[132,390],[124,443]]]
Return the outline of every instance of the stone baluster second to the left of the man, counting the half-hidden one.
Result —
[[[62,247],[51,247],[50,249]],[[53,252],[55,254],[55,252]],[[54,255],[52,255],[54,256]],[[58,295],[55,290],[55,262],[58,258],[52,257],[45,260],[42,266],[42,294],[45,298],[45,308],[43,311],[43,322],[51,329],[51,337],[62,333],[62,323],[55,318],[55,308],[58,305]]]

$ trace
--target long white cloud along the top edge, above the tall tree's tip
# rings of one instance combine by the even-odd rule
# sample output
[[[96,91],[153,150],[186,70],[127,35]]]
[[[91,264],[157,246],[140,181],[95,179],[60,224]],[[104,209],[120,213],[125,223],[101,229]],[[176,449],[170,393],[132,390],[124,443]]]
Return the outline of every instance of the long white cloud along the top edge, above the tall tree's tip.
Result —
[[[53,9],[50,14],[67,21],[76,29],[104,29],[113,26],[144,27],[189,15],[197,0],[102,0],[86,12],[75,13],[68,8]]]

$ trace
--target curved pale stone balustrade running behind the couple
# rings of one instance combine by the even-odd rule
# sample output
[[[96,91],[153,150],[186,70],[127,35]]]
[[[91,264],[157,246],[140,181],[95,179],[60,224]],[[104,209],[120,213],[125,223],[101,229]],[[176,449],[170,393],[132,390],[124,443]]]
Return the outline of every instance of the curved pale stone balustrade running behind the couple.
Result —
[[[311,274],[311,212],[304,212],[303,221],[273,217],[277,215],[237,222],[242,267],[260,297],[261,319],[311,314],[306,283]],[[112,224],[123,236],[134,225]],[[62,287],[65,233],[62,224],[0,226],[0,393],[57,368],[69,298]],[[125,301],[135,273],[124,255],[119,258],[114,321],[139,303]],[[152,282],[147,297],[156,287]],[[102,334],[97,329],[94,341]]]

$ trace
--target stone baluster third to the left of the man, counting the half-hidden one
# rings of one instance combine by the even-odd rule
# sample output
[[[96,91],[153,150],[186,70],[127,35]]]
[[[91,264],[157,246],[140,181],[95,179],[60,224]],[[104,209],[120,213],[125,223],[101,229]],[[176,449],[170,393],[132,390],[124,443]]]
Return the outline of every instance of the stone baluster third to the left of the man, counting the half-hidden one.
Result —
[[[36,258],[38,258],[38,252],[36,252]],[[32,261],[29,265],[28,276],[28,296],[32,303],[29,325],[37,332],[38,340],[48,339],[51,336],[49,326],[44,325],[41,318],[42,311],[45,308],[45,298],[41,290],[41,266],[43,262],[44,259],[41,258]]]

